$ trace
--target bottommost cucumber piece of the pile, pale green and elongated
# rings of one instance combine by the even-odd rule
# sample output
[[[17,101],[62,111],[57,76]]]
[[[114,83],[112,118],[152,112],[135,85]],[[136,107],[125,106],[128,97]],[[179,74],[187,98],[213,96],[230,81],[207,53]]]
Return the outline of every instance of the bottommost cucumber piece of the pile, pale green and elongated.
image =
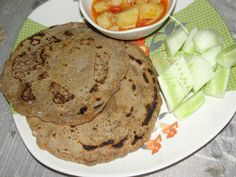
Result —
[[[205,103],[205,97],[201,91],[185,99],[174,111],[177,119],[185,119]]]

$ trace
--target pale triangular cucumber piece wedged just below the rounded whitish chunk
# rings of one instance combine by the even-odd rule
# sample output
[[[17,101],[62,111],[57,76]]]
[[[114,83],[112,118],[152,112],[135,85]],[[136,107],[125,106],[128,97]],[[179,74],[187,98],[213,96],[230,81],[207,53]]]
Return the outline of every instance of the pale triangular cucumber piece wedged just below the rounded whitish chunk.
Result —
[[[213,70],[216,68],[217,55],[220,53],[221,50],[222,46],[217,45],[201,55],[202,58],[204,58],[206,61],[210,63]]]

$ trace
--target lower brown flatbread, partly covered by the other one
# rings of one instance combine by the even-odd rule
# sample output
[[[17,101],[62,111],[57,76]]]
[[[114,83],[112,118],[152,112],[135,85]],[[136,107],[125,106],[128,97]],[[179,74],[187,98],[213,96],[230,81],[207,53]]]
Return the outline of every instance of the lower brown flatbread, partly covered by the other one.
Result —
[[[120,89],[90,122],[63,126],[27,118],[40,148],[86,165],[108,162],[148,141],[161,106],[156,71],[135,45],[127,44],[129,70]]]

